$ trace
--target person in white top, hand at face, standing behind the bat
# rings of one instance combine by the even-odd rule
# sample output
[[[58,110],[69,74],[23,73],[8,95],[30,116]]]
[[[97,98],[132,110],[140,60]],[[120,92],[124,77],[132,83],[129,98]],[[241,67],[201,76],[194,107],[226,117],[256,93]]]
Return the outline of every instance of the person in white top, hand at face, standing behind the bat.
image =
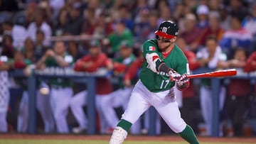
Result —
[[[200,67],[216,69],[220,67],[220,62],[227,60],[226,55],[222,52],[215,36],[209,36],[206,39],[206,47],[196,52],[196,57]],[[213,121],[213,97],[210,94],[210,79],[201,79],[200,87],[200,104],[204,123],[206,124],[206,133],[211,135]],[[220,111],[223,109],[225,99],[225,87],[220,88]],[[222,133],[220,133],[222,135]]]

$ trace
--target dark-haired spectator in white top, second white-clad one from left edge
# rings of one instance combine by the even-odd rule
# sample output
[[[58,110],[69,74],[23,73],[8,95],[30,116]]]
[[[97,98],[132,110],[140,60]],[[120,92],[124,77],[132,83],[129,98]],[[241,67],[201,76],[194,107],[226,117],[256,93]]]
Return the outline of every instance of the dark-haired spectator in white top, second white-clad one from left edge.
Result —
[[[34,12],[35,13],[35,12]],[[35,21],[28,25],[28,35],[32,38],[32,40],[36,41],[36,32],[38,30],[43,31],[45,35],[45,39],[43,41],[43,45],[50,46],[50,36],[52,35],[52,30],[50,25],[46,23],[46,13],[42,13],[42,11],[37,10],[34,15]]]

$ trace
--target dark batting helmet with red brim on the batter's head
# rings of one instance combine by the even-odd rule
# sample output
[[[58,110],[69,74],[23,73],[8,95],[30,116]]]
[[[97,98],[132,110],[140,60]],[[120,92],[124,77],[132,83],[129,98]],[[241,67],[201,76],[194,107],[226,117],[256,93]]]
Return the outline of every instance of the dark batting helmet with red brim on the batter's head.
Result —
[[[173,21],[163,21],[159,26],[159,30],[155,31],[155,34],[164,38],[174,38],[174,36],[178,35],[178,26]]]

